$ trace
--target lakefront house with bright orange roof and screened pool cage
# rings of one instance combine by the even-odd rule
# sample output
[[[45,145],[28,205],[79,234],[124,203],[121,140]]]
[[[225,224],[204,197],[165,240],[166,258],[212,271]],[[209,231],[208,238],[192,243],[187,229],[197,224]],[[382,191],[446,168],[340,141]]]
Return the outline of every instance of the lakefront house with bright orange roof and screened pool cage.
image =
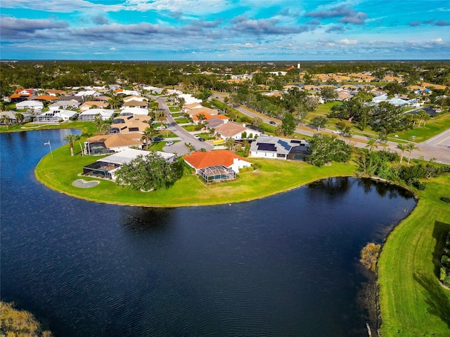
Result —
[[[236,173],[239,173],[240,169],[252,165],[250,161],[229,150],[194,152],[184,156],[183,159],[207,183],[232,180],[236,178]]]

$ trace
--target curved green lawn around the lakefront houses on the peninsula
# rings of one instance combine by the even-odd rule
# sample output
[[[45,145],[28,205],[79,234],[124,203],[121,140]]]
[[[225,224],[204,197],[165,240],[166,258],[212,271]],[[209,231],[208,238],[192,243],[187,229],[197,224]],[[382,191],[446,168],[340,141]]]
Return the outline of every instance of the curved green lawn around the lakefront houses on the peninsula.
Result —
[[[101,180],[96,187],[87,189],[72,185],[74,180],[96,180],[80,177],[83,166],[99,157],[70,157],[68,145],[53,150],[53,159],[47,155],[37,165],[37,179],[45,185],[73,197],[91,201],[139,206],[198,206],[248,201],[293,189],[314,180],[330,176],[352,176],[356,168],[351,164],[333,164],[318,169],[297,161],[249,159],[261,166],[258,171],[240,173],[238,179],[205,186],[188,171],[168,190],[139,192]]]

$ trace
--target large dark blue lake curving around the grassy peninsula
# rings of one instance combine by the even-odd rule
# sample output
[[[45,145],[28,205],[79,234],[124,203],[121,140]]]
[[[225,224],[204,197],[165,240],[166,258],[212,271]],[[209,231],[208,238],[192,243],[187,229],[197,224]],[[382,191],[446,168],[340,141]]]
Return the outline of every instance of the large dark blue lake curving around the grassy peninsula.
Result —
[[[34,178],[68,132],[0,134],[2,300],[56,336],[364,336],[359,251],[411,194],[340,178],[243,204],[96,204]]]

